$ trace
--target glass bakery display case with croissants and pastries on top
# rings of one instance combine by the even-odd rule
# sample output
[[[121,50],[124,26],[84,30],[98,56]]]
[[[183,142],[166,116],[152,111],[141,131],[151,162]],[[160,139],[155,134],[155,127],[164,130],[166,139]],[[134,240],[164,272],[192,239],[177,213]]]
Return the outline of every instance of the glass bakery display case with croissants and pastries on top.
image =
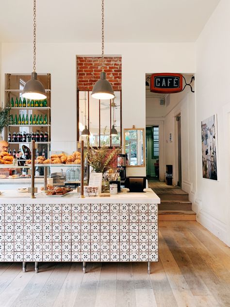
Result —
[[[34,152],[36,153],[36,149]],[[2,195],[31,197],[32,188],[34,188],[35,197],[38,193],[62,195],[80,186],[80,152],[70,155],[50,152],[49,159],[40,155],[36,156],[36,154],[35,157],[34,166],[31,159],[23,160],[23,165],[18,165],[22,161],[15,163],[10,153],[0,153],[0,192]],[[83,175],[86,184],[87,166],[84,168]]]

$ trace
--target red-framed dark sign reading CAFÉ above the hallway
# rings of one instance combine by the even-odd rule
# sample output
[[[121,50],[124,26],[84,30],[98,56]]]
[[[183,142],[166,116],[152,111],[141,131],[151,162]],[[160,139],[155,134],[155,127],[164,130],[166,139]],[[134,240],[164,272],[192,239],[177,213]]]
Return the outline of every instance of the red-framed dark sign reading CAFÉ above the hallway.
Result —
[[[180,73],[153,73],[150,79],[150,91],[168,94],[181,92],[182,78]]]

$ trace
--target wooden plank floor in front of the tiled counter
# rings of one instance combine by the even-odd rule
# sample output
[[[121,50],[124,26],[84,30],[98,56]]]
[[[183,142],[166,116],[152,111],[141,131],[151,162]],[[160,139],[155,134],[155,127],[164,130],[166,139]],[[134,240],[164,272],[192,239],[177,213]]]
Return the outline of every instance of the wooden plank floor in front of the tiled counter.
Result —
[[[159,222],[158,263],[0,263],[0,307],[229,307],[230,248],[198,222]]]

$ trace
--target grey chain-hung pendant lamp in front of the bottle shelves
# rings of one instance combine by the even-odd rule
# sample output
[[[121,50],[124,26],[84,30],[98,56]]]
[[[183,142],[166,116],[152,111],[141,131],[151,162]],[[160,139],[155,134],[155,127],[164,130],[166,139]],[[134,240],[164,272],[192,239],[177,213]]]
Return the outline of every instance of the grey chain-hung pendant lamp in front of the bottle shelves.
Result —
[[[36,0],[33,0],[33,72],[31,80],[27,81],[22,92],[22,97],[33,100],[46,99],[45,88],[40,81],[37,80],[36,69]]]

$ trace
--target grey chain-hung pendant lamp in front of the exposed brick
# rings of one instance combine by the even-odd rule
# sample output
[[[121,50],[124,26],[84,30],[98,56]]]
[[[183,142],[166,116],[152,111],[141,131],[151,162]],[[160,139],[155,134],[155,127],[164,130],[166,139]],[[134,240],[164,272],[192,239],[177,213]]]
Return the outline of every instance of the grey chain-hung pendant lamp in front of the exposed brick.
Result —
[[[104,0],[101,4],[101,57],[102,57],[102,71],[100,73],[100,79],[95,83],[91,96],[95,99],[113,99],[115,97],[112,85],[106,80],[106,74],[104,72]]]

